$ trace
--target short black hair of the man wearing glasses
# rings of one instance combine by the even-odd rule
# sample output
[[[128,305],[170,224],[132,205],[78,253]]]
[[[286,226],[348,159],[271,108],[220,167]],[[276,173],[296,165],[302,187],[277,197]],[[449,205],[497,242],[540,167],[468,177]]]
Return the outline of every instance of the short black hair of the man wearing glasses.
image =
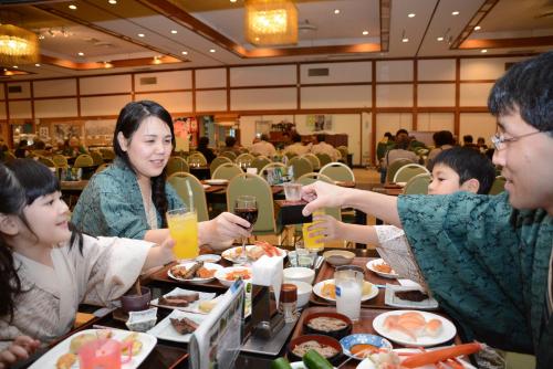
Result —
[[[511,66],[493,85],[488,108],[494,116],[519,109],[525,123],[553,135],[553,52]]]

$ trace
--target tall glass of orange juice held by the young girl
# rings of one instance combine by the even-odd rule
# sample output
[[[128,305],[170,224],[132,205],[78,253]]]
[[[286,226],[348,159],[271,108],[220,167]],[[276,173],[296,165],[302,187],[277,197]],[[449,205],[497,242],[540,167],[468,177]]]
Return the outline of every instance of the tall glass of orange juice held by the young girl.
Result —
[[[167,212],[169,233],[175,240],[173,252],[177,260],[190,260],[199,255],[198,217],[196,210],[179,208]]]

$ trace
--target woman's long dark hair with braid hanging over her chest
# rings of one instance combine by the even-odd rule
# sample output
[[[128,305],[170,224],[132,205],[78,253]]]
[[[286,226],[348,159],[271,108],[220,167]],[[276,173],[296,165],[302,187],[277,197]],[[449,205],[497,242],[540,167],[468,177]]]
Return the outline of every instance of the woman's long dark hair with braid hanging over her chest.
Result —
[[[131,165],[127,152],[123,151],[121,148],[117,136],[122,133],[126,139],[131,140],[134,133],[138,130],[138,127],[147,117],[156,117],[167,124],[171,133],[173,147],[175,148],[175,130],[173,128],[173,118],[169,112],[167,112],[161,105],[150,101],[128,103],[121,109],[119,116],[117,117],[117,124],[115,125],[115,131],[113,133],[113,148],[115,155],[123,159],[127,167],[133,171],[135,171],[135,169]],[[167,196],[165,193],[166,178],[167,172],[165,168],[159,176],[152,178],[152,202],[154,202],[157,212],[161,215],[161,228],[167,228],[165,213],[169,207]]]

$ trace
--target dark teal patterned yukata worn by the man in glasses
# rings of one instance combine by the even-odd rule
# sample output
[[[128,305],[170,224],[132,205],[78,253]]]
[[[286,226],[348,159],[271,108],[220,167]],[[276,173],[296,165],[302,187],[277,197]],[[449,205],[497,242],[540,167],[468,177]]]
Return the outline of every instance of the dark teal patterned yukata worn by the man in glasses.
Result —
[[[553,218],[514,210],[507,193],[403,196],[398,212],[434,297],[463,338],[533,352],[539,368],[553,368]]]

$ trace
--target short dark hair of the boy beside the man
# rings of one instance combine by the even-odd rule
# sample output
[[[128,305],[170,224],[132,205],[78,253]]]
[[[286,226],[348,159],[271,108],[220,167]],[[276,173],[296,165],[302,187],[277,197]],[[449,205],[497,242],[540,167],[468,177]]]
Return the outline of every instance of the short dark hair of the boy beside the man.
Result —
[[[495,179],[495,167],[491,160],[479,151],[467,147],[453,147],[444,150],[432,160],[430,171],[438,164],[451,168],[459,175],[459,184],[474,178],[480,183],[478,192],[487,194]]]

